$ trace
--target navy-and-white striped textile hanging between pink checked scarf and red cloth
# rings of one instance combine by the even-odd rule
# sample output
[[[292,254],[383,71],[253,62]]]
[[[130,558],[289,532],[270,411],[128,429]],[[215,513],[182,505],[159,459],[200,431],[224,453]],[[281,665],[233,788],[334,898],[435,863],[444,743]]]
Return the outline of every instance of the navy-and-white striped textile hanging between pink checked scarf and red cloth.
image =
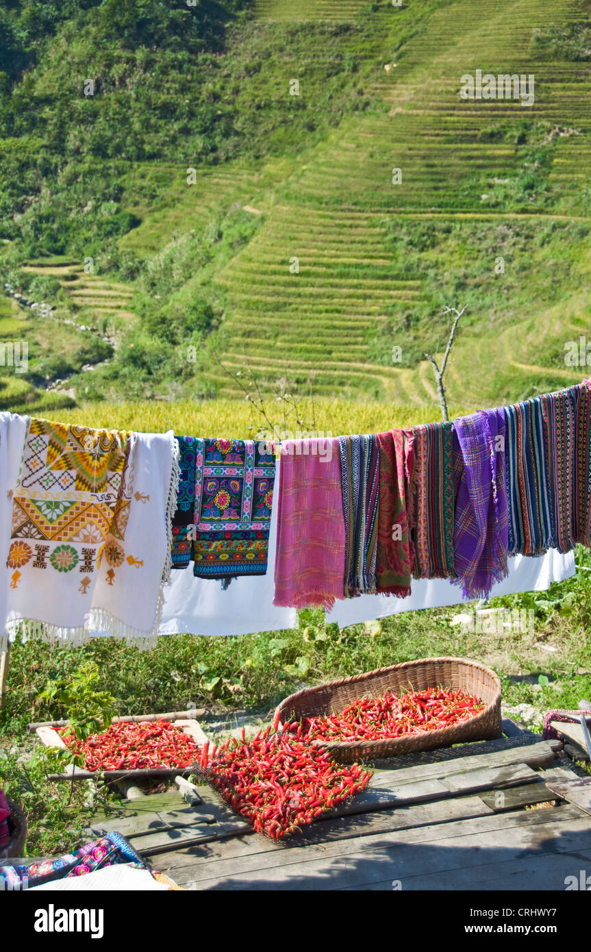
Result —
[[[340,436],[345,598],[376,590],[380,452],[376,436]]]

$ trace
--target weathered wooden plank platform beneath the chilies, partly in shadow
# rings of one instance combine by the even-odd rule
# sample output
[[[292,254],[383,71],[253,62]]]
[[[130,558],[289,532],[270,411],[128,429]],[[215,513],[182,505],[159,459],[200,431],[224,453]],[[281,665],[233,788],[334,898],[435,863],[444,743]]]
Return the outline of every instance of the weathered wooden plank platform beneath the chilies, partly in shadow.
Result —
[[[194,805],[178,791],[128,801],[89,833],[119,830],[194,890],[562,890],[591,863],[587,784],[559,761],[560,741],[503,729],[498,741],[377,764],[361,796],[283,843],[207,786]]]

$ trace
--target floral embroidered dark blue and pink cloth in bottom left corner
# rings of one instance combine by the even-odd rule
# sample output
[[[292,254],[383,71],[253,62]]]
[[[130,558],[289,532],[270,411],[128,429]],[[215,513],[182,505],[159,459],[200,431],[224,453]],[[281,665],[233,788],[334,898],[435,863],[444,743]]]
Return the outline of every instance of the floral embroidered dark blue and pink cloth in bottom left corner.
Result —
[[[19,866],[0,866],[0,891],[3,888],[7,890],[32,889],[42,883],[51,883],[72,876],[86,876],[96,869],[118,863],[133,863],[140,869],[148,868],[133,846],[120,833],[108,833],[107,836],[87,843],[57,860],[23,863]]]

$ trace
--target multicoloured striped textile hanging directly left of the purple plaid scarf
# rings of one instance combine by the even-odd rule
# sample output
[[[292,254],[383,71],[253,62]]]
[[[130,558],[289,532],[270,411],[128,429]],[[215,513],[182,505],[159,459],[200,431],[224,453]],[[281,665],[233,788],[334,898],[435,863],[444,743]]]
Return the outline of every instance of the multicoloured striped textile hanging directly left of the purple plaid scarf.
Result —
[[[414,426],[413,575],[417,579],[455,575],[453,557],[452,425]]]

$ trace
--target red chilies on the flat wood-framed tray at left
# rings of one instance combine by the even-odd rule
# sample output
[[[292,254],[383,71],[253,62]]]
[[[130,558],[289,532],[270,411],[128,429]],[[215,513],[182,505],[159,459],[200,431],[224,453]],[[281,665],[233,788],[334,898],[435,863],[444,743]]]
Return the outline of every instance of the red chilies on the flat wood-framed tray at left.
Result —
[[[102,734],[91,734],[81,743],[68,728],[64,743],[84,757],[87,770],[144,770],[154,767],[189,767],[201,754],[198,744],[169,721],[117,721]]]

